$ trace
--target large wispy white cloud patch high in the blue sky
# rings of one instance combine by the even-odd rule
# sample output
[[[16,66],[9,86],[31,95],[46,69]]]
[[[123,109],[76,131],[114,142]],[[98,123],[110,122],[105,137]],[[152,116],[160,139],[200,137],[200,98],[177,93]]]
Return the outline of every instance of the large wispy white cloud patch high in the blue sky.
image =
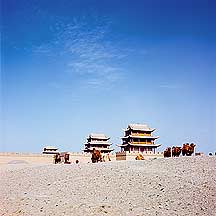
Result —
[[[74,18],[72,23],[58,22],[51,29],[56,31],[54,40],[35,47],[34,53],[66,56],[66,70],[77,74],[90,86],[114,83],[123,77],[125,69],[121,64],[127,51],[119,50],[109,40],[108,19],[94,17],[87,22],[85,17]]]

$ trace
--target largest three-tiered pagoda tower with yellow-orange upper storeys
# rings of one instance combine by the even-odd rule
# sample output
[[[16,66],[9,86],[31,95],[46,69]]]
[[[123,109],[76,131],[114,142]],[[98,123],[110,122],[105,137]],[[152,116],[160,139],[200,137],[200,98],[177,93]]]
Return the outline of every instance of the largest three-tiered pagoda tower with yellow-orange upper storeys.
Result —
[[[146,124],[129,124],[125,129],[124,137],[121,137],[123,143],[118,145],[121,151],[140,152],[155,154],[160,144],[155,144],[158,136],[153,136],[155,129],[149,128]]]

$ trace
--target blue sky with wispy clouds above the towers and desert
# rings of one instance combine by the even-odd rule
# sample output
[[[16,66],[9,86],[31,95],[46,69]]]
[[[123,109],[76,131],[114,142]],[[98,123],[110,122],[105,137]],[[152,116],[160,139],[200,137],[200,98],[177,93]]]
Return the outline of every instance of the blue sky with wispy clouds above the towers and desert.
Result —
[[[0,151],[115,147],[129,123],[216,151],[214,1],[1,3]]]

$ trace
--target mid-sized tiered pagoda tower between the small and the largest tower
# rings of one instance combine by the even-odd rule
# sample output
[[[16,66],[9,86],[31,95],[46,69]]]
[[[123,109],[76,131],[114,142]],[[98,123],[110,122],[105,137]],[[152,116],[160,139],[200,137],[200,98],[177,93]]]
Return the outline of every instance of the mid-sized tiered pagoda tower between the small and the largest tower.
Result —
[[[110,153],[113,149],[110,149],[110,145],[108,140],[110,137],[106,137],[104,134],[95,134],[91,133],[89,137],[87,137],[87,142],[84,144],[84,152],[92,152],[93,148],[96,150],[100,150],[101,153]]]

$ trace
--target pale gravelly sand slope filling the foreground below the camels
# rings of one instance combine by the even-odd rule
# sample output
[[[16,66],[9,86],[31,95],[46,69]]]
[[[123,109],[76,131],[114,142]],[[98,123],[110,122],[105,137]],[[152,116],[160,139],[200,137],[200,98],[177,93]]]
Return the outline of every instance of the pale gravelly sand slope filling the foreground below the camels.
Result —
[[[216,215],[216,157],[0,164],[1,215]]]

